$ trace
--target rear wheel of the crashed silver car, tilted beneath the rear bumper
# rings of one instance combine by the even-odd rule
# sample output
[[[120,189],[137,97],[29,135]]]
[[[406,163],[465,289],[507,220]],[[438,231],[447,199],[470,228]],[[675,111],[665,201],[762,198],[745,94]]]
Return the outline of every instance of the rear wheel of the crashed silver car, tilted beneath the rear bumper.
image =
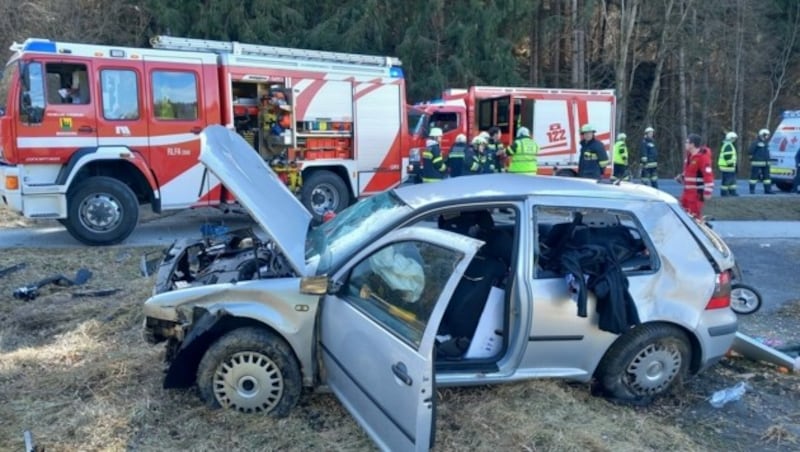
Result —
[[[646,404],[686,378],[691,348],[686,334],[665,324],[645,324],[617,339],[595,374],[602,393],[615,401]]]

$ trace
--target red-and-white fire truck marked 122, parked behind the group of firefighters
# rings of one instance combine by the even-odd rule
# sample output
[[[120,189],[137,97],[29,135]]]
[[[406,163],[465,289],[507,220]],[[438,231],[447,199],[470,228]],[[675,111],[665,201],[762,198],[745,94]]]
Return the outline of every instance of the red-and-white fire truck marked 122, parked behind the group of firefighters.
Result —
[[[473,86],[450,89],[442,98],[409,109],[414,135],[412,160],[424,148],[432,127],[444,132],[442,149],[450,149],[459,134],[469,139],[497,126],[502,142],[514,141],[517,128],[527,127],[539,144],[539,174],[576,176],[580,127],[591,124],[597,139],[610,151],[616,97],[613,90],[576,90]],[[611,168],[606,171],[610,174]]]

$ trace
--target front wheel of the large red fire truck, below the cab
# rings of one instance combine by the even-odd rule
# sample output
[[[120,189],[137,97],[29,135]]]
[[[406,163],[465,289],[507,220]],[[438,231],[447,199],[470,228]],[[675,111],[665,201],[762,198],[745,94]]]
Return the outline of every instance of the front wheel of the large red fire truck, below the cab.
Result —
[[[67,193],[70,235],[86,245],[113,245],[125,240],[139,221],[133,190],[117,179],[89,177]]]

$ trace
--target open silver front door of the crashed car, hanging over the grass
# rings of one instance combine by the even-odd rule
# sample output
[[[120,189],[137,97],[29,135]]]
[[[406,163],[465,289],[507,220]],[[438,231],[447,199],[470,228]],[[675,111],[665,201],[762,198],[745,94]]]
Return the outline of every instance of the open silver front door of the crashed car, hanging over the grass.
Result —
[[[393,231],[356,255],[321,308],[327,384],[383,450],[428,450],[434,345],[456,286],[483,242],[425,227]]]

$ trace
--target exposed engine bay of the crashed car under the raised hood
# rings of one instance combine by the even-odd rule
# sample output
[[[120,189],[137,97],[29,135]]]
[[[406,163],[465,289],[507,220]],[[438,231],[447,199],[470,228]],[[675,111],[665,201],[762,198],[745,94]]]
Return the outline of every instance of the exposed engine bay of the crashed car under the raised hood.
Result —
[[[294,271],[278,247],[246,228],[213,238],[175,241],[158,268],[155,293],[291,276]]]

